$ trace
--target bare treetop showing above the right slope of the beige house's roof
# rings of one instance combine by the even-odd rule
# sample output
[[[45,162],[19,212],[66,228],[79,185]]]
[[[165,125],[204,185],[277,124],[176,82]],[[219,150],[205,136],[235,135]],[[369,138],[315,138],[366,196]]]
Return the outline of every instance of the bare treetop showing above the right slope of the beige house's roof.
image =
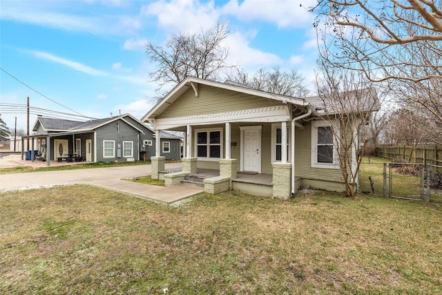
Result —
[[[235,73],[229,75],[229,79],[269,93],[293,97],[307,97],[309,94],[309,90],[303,85],[304,77],[295,69],[287,73],[279,66],[273,66],[271,70],[260,68],[253,76],[250,76],[244,72],[244,69],[236,68]]]

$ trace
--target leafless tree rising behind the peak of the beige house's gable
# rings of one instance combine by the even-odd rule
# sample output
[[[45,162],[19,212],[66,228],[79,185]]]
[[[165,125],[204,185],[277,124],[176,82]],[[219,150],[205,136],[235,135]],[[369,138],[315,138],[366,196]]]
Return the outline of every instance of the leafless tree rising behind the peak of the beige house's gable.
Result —
[[[227,23],[216,23],[209,30],[193,34],[172,35],[164,46],[146,44],[146,55],[157,65],[150,74],[159,88],[178,84],[185,77],[218,79],[226,64],[228,48],[222,41],[229,35]]]

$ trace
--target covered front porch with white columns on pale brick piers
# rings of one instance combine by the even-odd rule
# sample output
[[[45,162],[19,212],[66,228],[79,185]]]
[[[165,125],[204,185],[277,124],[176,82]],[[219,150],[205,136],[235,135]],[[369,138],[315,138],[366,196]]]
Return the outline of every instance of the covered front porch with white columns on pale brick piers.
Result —
[[[290,130],[288,122],[185,126],[182,169],[165,171],[165,158],[153,157],[152,177],[166,186],[198,179],[209,193],[232,189],[288,199],[300,188],[300,178],[292,175]]]

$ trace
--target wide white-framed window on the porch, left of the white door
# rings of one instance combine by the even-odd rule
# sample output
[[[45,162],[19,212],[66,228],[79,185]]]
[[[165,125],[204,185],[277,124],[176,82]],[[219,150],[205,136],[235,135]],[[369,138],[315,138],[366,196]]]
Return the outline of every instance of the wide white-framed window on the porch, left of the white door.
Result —
[[[222,158],[222,129],[198,129],[195,138],[198,159],[218,161]]]

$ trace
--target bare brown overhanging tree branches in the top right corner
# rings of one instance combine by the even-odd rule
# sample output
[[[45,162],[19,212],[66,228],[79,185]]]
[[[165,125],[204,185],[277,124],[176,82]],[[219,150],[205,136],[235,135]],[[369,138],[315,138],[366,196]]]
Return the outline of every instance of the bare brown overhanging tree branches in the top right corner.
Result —
[[[442,1],[318,0],[320,54],[373,82],[442,77]]]

